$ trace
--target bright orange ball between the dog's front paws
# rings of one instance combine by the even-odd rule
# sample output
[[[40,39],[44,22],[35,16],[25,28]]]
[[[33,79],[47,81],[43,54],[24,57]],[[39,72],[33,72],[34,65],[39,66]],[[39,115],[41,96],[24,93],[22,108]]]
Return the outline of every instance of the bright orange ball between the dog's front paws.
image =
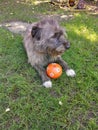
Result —
[[[57,79],[62,74],[62,67],[57,63],[51,63],[47,66],[46,73],[50,78]]]

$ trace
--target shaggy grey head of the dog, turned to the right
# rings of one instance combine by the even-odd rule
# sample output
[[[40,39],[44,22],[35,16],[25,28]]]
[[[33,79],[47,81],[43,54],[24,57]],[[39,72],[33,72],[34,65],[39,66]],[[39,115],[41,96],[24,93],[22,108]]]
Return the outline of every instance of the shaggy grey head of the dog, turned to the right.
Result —
[[[65,30],[53,19],[43,20],[35,24],[31,31],[31,35],[36,41],[44,43],[44,48],[46,48],[44,53],[50,55],[60,55],[70,48],[65,34]]]

